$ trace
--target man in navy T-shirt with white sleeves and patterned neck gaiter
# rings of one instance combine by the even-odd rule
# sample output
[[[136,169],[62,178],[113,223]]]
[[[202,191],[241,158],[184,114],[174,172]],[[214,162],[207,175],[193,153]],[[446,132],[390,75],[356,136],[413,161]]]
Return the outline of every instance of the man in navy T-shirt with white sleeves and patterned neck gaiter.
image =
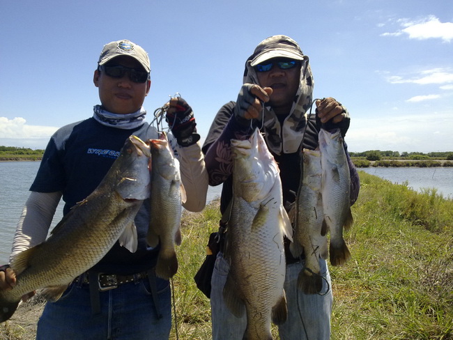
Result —
[[[134,42],[118,40],[102,49],[93,76],[100,105],[95,105],[91,118],[61,127],[51,137],[17,224],[11,258],[45,240],[61,197],[66,215],[95,190],[128,137],[134,134],[143,141],[159,137],[145,121],[142,107],[151,86],[150,72],[148,54]],[[182,98],[172,98],[167,105],[172,132],[168,137],[187,191],[183,206],[200,211],[208,178],[194,115]],[[156,277],[159,247],[146,242],[150,210],[150,199],[145,199],[134,220],[137,250],[130,252],[116,242],[100,262],[75,278],[59,300],[47,302],[36,339],[169,338],[169,281]],[[15,284],[13,268],[0,268],[0,289]]]

